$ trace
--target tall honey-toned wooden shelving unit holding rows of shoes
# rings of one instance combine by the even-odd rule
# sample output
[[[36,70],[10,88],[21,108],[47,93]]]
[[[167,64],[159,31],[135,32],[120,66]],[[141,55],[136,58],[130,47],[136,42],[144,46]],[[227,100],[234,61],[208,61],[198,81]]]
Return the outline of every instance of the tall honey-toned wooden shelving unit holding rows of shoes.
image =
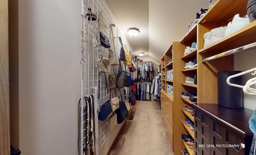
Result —
[[[194,121],[194,116],[184,109],[186,105],[192,106],[192,102],[189,99],[181,97],[182,92],[194,92],[197,95],[197,103],[218,103],[218,86],[217,86],[217,72],[232,71],[233,70],[233,54],[227,56],[215,57],[222,52],[232,50],[256,42],[256,22],[252,22],[244,28],[230,34],[204,48],[204,34],[210,32],[213,28],[225,26],[230,22],[234,15],[240,14],[240,17],[246,15],[246,6],[248,0],[240,1],[226,1],[216,0],[216,2],[209,8],[204,16],[187,32],[180,42],[173,42],[172,46],[166,51],[161,58],[161,67],[164,62],[170,60],[171,49],[173,50],[172,67],[168,67],[169,64],[161,68],[162,75],[167,75],[167,71],[173,69],[173,81],[166,79],[161,80],[161,87],[172,83],[173,85],[173,97],[169,100],[172,102],[173,125],[172,135],[174,139],[174,154],[183,153],[183,149],[186,148],[190,155],[194,155],[195,151],[191,149],[185,141],[181,139],[182,134],[191,135],[195,140],[195,134],[191,131],[189,126],[185,123],[186,117]],[[222,10],[222,11],[220,11]],[[193,42],[197,42],[197,48],[190,53],[184,54],[186,46],[190,46]],[[214,56],[214,59],[207,60]],[[184,69],[186,62],[193,61],[197,58],[197,67]],[[167,61],[166,61],[167,60]],[[207,61],[205,61],[207,60]],[[185,83],[187,76],[197,76],[197,84]],[[165,86],[166,87],[166,86]],[[161,110],[166,111],[165,96],[166,91],[161,91]],[[168,94],[167,94],[168,95]],[[163,101],[162,101],[163,99]],[[168,98],[167,98],[168,101]],[[162,113],[163,114],[163,113]],[[166,114],[168,115],[168,113]],[[194,125],[196,128],[196,125]],[[198,133],[200,134],[200,133]]]

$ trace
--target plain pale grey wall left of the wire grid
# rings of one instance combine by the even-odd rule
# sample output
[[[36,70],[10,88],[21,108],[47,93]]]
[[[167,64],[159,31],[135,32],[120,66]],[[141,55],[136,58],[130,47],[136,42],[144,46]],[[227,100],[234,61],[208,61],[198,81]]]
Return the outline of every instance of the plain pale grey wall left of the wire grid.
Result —
[[[22,0],[18,6],[19,149],[76,155],[81,1]]]

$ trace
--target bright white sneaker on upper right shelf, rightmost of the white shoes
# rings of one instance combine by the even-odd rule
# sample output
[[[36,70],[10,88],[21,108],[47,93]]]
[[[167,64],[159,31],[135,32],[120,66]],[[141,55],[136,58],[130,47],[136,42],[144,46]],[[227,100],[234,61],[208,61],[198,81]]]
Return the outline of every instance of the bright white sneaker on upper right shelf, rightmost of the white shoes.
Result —
[[[239,16],[239,14],[236,14],[232,20],[230,34],[236,32],[237,30],[243,28],[244,26],[246,26],[248,24],[250,24],[249,18],[242,18]]]

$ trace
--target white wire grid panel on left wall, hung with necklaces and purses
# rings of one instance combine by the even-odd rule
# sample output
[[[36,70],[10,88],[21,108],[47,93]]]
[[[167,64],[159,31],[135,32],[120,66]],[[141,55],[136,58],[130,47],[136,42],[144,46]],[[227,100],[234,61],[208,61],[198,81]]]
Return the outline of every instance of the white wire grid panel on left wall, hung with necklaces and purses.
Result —
[[[88,8],[91,8],[91,12],[96,15],[97,20],[88,20]],[[108,93],[106,89],[106,80],[104,74],[98,74],[98,61],[99,56],[102,55],[104,58],[108,58],[108,50],[102,46],[100,46],[99,42],[99,24],[98,17],[99,13],[102,13],[103,22],[104,22],[104,34],[106,36],[110,36],[110,23],[111,17],[106,11],[106,8],[102,5],[100,0],[82,0],[82,18],[84,18],[84,22],[82,22],[82,28],[84,29],[84,33],[81,31],[82,39],[82,91],[81,98],[91,95],[94,95],[94,130],[95,130],[95,154],[98,155],[98,151],[100,147],[104,144],[107,139],[107,119],[105,121],[98,121],[98,107],[100,107],[101,103],[103,103],[106,99],[108,99]],[[92,18],[91,18],[92,19]],[[108,73],[106,74],[108,81]],[[95,92],[98,92],[97,94]],[[97,98],[95,98],[97,97]],[[90,154],[90,150],[88,150],[88,140],[89,135],[86,133],[88,131],[88,111],[86,109],[86,103],[82,100],[81,104],[81,122],[80,122],[80,152],[84,155]],[[84,146],[86,145],[86,146]]]

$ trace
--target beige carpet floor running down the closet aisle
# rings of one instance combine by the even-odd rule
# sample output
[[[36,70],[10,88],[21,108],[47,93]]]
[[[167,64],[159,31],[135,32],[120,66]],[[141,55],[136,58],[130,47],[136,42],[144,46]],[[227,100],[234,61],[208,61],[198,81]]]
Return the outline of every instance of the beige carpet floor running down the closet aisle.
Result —
[[[132,111],[134,117],[127,119],[110,155],[173,155],[160,103],[137,101]]]

